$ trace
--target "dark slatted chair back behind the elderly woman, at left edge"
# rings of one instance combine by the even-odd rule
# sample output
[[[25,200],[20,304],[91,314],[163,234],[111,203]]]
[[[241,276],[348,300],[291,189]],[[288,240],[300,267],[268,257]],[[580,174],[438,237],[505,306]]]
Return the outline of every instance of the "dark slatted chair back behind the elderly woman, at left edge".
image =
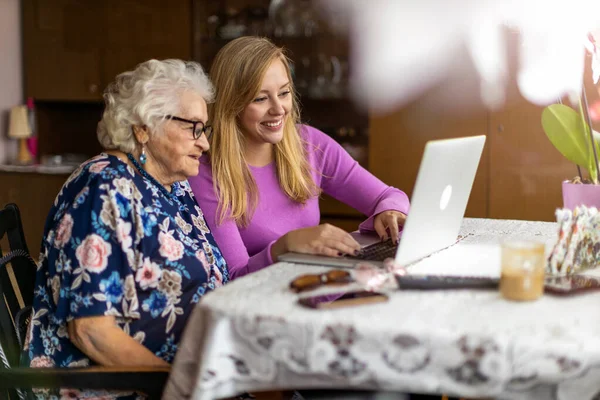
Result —
[[[16,204],[0,210],[0,240],[3,238],[7,239],[8,251],[3,254],[0,249],[0,368],[10,368],[19,365],[37,271]]]

